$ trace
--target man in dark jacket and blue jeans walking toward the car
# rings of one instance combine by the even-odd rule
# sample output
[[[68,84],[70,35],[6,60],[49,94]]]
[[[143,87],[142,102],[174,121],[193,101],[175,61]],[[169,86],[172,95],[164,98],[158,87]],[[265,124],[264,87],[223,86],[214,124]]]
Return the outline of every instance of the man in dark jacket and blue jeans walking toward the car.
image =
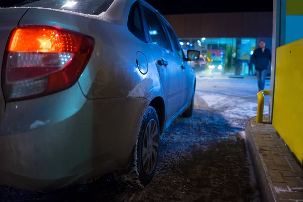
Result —
[[[259,48],[257,48],[251,56],[251,63],[255,64],[259,91],[264,90],[269,62],[271,62],[271,53],[270,50],[266,48],[265,41],[262,40],[259,43]]]

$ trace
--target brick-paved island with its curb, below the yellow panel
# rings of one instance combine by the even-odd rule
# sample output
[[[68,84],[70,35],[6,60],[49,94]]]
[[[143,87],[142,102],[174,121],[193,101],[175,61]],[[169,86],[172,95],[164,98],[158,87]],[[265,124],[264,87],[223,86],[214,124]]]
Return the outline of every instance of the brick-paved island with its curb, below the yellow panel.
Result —
[[[245,129],[263,201],[303,201],[303,171],[268,117],[250,119]]]

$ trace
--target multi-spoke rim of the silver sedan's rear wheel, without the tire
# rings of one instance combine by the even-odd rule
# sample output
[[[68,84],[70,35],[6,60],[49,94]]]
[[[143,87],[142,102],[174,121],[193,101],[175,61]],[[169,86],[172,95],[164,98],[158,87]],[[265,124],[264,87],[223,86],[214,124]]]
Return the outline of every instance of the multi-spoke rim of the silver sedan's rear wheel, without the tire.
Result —
[[[157,122],[151,119],[144,131],[142,145],[142,165],[145,174],[150,175],[156,166],[158,158],[159,131]]]

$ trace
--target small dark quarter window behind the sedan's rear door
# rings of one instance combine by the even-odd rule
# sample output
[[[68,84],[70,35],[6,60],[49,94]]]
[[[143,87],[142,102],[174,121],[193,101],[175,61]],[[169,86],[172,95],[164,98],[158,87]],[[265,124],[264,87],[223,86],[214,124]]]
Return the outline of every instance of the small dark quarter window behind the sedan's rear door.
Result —
[[[146,41],[138,2],[135,2],[130,9],[127,27],[129,31],[133,33],[133,35],[135,35],[138,39]]]

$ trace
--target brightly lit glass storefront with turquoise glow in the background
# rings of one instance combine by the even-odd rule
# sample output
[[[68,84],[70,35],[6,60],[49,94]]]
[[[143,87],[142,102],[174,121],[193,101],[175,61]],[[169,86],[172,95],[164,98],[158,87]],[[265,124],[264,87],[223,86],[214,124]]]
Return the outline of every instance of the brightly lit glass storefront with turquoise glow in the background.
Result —
[[[267,47],[271,47],[271,38],[201,37],[179,40],[185,54],[188,49],[200,51],[200,59],[190,62],[197,76],[254,76],[250,56],[260,40],[265,40]]]

